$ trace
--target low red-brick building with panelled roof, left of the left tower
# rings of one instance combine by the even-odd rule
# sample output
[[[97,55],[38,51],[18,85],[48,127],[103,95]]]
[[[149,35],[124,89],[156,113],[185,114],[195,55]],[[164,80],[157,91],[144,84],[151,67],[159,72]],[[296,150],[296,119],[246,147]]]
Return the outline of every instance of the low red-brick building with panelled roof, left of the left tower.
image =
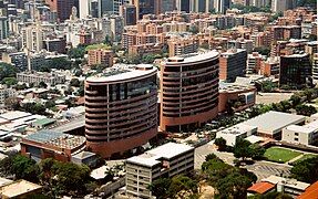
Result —
[[[69,134],[40,130],[22,138],[21,154],[35,161],[53,158],[59,161],[70,161],[73,154],[85,148],[85,137]]]

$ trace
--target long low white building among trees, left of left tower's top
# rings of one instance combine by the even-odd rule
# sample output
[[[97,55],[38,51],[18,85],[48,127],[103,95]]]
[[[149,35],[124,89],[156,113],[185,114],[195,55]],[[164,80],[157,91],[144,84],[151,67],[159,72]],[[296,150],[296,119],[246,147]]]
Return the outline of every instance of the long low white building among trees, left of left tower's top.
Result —
[[[44,82],[51,86],[57,84],[63,84],[65,82],[65,75],[59,72],[21,72],[17,73],[18,82],[25,83],[25,84],[34,84],[35,86],[40,84],[40,82]]]

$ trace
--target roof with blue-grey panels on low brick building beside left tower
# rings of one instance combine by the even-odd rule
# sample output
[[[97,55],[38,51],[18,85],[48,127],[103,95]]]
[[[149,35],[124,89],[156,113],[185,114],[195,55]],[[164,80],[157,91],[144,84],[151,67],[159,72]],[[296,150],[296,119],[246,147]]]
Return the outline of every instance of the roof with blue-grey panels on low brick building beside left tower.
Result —
[[[58,146],[65,149],[73,149],[79,146],[82,146],[86,140],[84,136],[73,136],[53,130],[40,130],[34,134],[28,135],[23,139],[40,144]]]

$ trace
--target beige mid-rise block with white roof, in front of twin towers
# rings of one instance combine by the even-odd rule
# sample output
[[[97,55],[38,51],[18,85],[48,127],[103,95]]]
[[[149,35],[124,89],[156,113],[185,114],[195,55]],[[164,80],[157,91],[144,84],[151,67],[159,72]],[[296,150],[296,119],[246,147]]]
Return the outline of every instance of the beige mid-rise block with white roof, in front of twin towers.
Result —
[[[194,169],[194,148],[167,143],[126,160],[126,193],[135,198],[153,198],[148,186],[161,177],[172,178]]]

